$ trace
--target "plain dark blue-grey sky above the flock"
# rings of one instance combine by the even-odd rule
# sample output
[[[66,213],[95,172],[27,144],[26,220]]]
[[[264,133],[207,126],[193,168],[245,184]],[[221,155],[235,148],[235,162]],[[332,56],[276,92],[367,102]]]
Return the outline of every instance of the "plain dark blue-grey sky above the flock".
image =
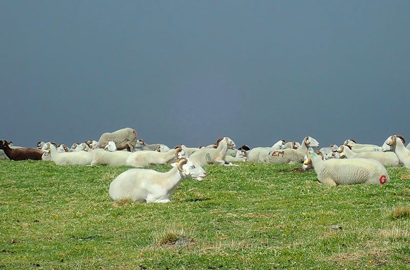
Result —
[[[410,141],[409,1],[0,1],[0,139]]]

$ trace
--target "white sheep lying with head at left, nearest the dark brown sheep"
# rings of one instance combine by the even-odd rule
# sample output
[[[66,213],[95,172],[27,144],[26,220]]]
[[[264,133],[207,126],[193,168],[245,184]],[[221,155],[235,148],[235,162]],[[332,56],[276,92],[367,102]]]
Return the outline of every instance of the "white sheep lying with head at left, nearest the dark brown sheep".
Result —
[[[93,160],[91,153],[86,151],[59,153],[50,142],[46,143],[42,150],[50,152],[51,159],[56,165],[90,165]]]

